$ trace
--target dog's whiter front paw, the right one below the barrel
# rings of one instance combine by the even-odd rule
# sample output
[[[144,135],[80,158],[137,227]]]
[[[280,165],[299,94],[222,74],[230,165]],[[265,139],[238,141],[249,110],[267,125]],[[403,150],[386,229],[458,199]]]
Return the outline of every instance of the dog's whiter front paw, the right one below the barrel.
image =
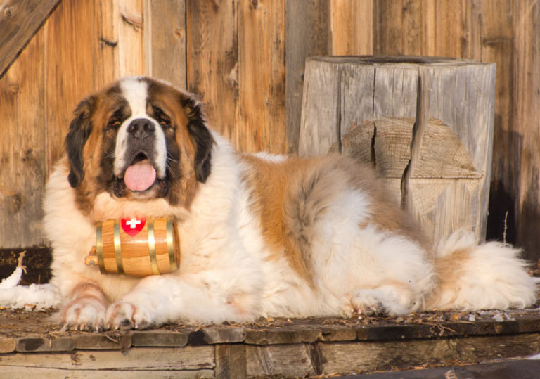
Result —
[[[145,329],[153,325],[146,307],[131,302],[115,302],[107,309],[107,328]]]

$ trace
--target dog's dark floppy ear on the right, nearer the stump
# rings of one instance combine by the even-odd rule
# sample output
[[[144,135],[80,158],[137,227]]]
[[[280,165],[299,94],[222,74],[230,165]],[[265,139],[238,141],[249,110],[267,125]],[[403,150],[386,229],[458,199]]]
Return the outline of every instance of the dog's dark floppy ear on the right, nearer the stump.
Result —
[[[202,105],[195,98],[184,101],[184,109],[188,116],[188,132],[195,144],[195,178],[205,183],[212,169],[212,145],[214,139],[206,126]]]

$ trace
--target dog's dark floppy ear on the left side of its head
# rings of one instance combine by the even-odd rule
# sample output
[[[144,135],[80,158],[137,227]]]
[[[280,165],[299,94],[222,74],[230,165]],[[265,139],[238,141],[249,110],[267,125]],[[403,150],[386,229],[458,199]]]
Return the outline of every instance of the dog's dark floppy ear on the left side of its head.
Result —
[[[65,147],[68,150],[70,161],[70,174],[68,181],[75,188],[84,178],[84,161],[82,151],[84,143],[92,131],[91,115],[94,111],[94,98],[86,98],[77,105],[75,118],[71,121],[70,131],[65,137]]]

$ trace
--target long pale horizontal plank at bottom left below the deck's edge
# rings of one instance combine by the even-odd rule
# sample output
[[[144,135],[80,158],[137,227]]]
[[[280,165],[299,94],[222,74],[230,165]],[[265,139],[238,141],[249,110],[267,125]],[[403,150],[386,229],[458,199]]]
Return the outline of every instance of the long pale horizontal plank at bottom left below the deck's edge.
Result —
[[[2,366],[117,371],[213,370],[214,347],[137,347],[120,350],[77,350],[72,354],[8,354]]]

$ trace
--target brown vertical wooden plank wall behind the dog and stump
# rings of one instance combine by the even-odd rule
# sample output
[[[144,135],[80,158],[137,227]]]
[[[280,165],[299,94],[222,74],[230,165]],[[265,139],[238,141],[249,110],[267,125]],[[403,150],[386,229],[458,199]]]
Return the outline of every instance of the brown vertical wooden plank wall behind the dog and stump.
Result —
[[[497,63],[488,237],[540,257],[539,45],[538,0],[63,0],[0,77],[0,248],[43,242],[72,109],[116,77],[186,86],[240,150],[289,153],[305,58],[377,54]]]

